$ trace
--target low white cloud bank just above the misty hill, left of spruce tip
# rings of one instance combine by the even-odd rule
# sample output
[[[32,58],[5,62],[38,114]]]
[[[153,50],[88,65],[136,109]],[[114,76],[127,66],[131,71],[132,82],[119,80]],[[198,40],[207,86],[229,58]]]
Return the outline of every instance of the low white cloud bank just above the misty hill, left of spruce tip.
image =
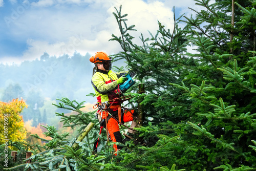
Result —
[[[40,57],[44,52],[50,56],[60,56],[68,54],[72,56],[75,52],[82,55],[86,53],[94,54],[97,51],[106,51],[109,54],[118,52],[120,50],[116,42],[109,42],[111,33],[108,31],[101,31],[97,34],[94,40],[82,39],[79,35],[72,36],[68,41],[56,42],[49,44],[48,41],[40,41],[29,39],[27,44],[28,50],[23,54],[25,60],[34,59],[35,56]]]

